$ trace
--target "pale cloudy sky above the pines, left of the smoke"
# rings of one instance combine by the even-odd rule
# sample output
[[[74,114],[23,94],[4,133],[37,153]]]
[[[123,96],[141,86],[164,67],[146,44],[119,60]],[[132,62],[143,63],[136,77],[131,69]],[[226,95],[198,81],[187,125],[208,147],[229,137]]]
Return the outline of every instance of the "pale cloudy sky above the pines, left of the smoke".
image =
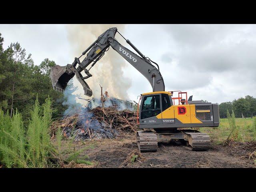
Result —
[[[1,24],[4,48],[11,42],[19,42],[26,53],[39,65],[45,58],[56,64],[66,65],[74,58],[67,40],[67,31],[62,24]]]

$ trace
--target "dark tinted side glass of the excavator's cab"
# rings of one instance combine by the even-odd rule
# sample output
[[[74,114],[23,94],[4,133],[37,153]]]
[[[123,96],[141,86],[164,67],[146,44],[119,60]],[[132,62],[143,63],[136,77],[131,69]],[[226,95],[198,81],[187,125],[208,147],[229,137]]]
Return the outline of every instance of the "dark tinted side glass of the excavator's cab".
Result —
[[[160,113],[160,95],[144,96],[140,118],[150,118]]]

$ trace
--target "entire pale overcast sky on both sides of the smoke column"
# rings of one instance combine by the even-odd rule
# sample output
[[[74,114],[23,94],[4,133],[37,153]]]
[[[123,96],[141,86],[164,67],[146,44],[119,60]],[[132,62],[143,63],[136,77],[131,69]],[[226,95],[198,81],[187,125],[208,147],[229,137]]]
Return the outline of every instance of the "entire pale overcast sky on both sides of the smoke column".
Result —
[[[68,39],[68,27],[0,24],[0,33],[4,48],[11,42],[19,42],[27,54],[32,54],[35,64],[49,58],[64,66],[80,56],[72,51],[76,42]],[[187,91],[193,100],[212,103],[246,95],[256,97],[256,25],[127,24],[121,32],[158,63],[166,90]],[[116,34],[116,38],[120,40],[121,36]],[[124,46],[132,50],[128,44]],[[108,52],[104,57],[107,56]],[[123,72],[132,82],[128,89],[130,99],[137,100],[141,93],[152,91],[144,76],[128,62]]]

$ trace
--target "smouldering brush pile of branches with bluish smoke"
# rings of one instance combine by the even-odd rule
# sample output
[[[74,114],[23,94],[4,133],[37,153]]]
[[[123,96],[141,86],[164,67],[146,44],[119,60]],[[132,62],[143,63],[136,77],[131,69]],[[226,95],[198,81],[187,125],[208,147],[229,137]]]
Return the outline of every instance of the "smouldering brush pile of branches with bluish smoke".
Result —
[[[74,137],[75,141],[115,138],[120,131],[136,132],[134,104],[111,97],[92,98],[84,108],[54,121],[52,136],[58,128],[62,129],[65,138]]]

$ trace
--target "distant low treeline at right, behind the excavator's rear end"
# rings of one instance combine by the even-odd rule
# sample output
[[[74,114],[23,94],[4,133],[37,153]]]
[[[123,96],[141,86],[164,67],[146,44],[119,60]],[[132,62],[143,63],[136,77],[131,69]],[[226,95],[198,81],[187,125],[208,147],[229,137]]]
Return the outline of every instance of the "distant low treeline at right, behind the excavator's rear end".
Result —
[[[227,118],[227,110],[234,114],[237,118],[253,117],[256,116],[256,98],[253,96],[245,96],[232,102],[224,102],[219,105],[220,118]]]

